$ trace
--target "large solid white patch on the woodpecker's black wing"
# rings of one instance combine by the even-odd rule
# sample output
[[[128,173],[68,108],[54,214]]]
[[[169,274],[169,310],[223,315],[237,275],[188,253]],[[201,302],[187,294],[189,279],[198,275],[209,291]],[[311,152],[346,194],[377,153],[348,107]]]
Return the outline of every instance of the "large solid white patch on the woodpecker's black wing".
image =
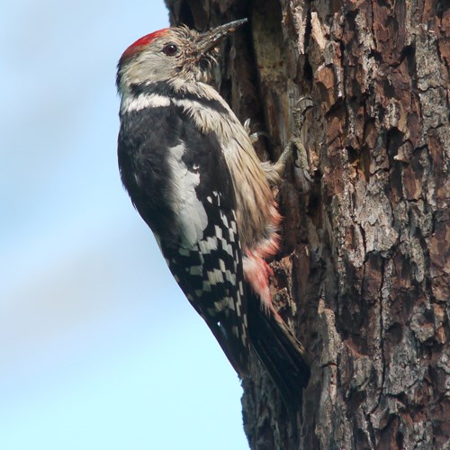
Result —
[[[192,248],[203,237],[208,225],[208,216],[197,198],[195,188],[200,184],[200,174],[191,172],[184,164],[184,145],[169,148],[168,164],[172,172],[173,199],[172,208],[180,221],[182,248]]]

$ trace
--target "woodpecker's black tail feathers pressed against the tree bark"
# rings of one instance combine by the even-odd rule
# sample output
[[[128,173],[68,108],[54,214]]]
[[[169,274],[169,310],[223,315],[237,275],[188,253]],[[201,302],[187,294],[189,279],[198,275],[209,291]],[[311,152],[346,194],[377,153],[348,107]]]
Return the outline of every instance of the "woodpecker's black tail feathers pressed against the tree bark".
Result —
[[[305,350],[284,320],[271,306],[262,308],[257,295],[249,299],[248,333],[251,346],[278,387],[284,402],[297,407],[310,379]]]

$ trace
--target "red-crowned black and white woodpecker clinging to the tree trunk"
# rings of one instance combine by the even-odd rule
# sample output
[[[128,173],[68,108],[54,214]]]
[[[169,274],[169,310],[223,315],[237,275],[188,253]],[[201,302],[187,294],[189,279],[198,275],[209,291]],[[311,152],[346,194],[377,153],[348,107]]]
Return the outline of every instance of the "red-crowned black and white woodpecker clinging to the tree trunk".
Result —
[[[207,84],[220,41],[246,22],[166,28],[123,52],[118,160],[175,281],[238,375],[248,375],[253,349],[291,400],[308,367],[272,305],[266,263],[281,220],[272,186],[289,155],[261,163],[246,127]]]

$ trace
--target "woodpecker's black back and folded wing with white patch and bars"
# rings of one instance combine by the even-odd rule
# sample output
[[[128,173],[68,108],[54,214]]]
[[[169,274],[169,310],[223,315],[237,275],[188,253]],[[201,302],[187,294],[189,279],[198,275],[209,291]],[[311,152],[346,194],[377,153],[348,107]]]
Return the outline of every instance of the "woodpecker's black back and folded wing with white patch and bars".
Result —
[[[217,137],[200,133],[183,107],[153,106],[155,98],[170,98],[173,106],[177,96],[165,90],[150,86],[145,113],[131,106],[121,115],[122,182],[188,300],[237,359],[233,365],[245,366],[244,278],[229,169]]]

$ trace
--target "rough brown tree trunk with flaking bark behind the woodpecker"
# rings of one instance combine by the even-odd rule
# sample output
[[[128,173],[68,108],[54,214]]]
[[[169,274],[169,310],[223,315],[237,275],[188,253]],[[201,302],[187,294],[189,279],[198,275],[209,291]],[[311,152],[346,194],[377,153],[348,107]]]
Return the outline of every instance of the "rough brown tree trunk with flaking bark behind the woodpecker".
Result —
[[[242,400],[251,448],[450,448],[446,2],[167,4],[197,30],[248,17],[218,87],[271,137],[262,158],[299,135],[302,95],[313,103],[301,133],[312,181],[292,170],[280,189],[273,263],[311,380],[293,417],[255,362]]]

